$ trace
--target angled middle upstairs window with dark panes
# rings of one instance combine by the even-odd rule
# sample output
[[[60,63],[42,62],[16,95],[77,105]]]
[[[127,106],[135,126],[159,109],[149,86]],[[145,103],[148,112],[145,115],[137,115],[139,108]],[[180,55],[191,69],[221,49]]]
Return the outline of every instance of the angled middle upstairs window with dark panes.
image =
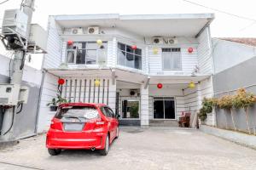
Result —
[[[118,43],[118,64],[142,69],[142,49],[132,49],[124,43]]]

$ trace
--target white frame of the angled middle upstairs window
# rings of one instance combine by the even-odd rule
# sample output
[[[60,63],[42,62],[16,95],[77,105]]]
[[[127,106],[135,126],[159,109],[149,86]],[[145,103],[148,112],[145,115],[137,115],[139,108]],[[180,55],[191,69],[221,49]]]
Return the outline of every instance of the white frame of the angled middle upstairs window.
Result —
[[[125,45],[125,50],[124,49],[121,49],[119,48],[119,44],[121,45]],[[123,42],[117,42],[117,65],[121,65],[121,66],[125,66],[125,67],[128,67],[128,68],[131,68],[131,69],[137,69],[137,70],[143,70],[143,49],[142,48],[137,48],[137,49],[132,49],[131,52],[127,51],[127,46],[131,47],[131,45],[128,45],[126,43],[123,43]],[[140,50],[140,54],[137,54],[137,50]],[[125,53],[125,65],[122,65],[120,62],[119,62],[119,53]],[[127,54],[131,54],[132,57],[133,57],[133,66],[128,66],[127,65]],[[139,63],[139,67],[136,68],[135,67],[135,62],[136,62],[136,56],[138,58],[140,58],[140,63]]]

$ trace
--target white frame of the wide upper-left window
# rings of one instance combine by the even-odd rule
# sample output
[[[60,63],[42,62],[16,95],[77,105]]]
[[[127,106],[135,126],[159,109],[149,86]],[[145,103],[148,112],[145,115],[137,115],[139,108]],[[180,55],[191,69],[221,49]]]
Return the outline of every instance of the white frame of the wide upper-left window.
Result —
[[[96,43],[96,41],[76,41],[76,42],[73,42],[74,44],[75,43],[82,43],[84,42],[86,45],[85,45],[85,48],[66,48],[66,55],[65,55],[65,62],[67,63],[67,65],[100,65],[98,63],[99,61],[99,50],[101,48],[87,48],[87,43]],[[105,43],[105,51],[106,51],[106,55],[105,55],[105,64],[106,65],[108,63],[108,41],[103,41],[103,45]],[[85,58],[84,58],[84,63],[77,63],[77,54],[78,54],[78,50],[85,50]],[[90,51],[90,50],[93,50],[93,51],[96,51],[96,64],[87,64],[87,51]],[[73,59],[73,62],[67,62],[67,53],[68,51],[73,51],[73,54],[74,54],[74,59]]]

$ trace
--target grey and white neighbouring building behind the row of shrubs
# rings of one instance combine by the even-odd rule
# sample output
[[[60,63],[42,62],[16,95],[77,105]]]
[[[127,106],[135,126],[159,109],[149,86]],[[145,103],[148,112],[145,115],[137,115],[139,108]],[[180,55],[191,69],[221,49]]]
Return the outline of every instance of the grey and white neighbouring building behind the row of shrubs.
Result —
[[[256,94],[256,38],[213,38],[212,55],[214,62],[214,97],[235,94],[238,88]],[[232,129],[230,113],[217,110],[217,126]],[[256,124],[256,107],[249,108],[249,126]],[[236,127],[247,131],[243,110],[234,109]],[[226,124],[227,123],[227,124]]]

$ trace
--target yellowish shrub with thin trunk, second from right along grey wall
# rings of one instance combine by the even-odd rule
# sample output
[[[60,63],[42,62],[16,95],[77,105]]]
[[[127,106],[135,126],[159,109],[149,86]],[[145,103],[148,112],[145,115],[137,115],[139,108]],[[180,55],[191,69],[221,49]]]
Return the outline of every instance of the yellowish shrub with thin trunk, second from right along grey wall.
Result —
[[[231,118],[232,118],[232,123],[233,123],[233,127],[236,130],[236,123],[234,120],[234,115],[233,115],[233,111],[232,111],[232,107],[233,107],[233,96],[232,95],[224,95],[223,97],[221,97],[220,99],[218,99],[218,107],[220,109],[224,109],[226,111],[230,111],[231,113]],[[228,122],[227,122],[227,118],[226,118],[226,128],[228,128]]]

